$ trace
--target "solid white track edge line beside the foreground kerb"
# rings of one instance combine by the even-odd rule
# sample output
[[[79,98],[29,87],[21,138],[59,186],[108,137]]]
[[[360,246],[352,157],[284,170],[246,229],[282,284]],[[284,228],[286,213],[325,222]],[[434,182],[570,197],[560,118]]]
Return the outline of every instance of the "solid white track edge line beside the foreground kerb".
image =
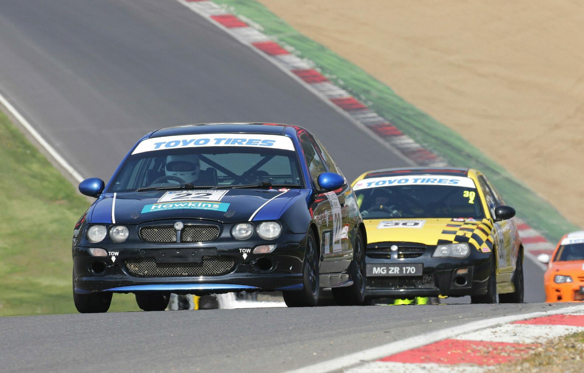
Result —
[[[567,309],[569,309],[568,312],[566,312]],[[351,367],[353,365],[363,363],[366,361],[376,360],[378,358],[394,355],[402,351],[417,349],[418,347],[426,346],[426,344],[439,342],[440,340],[443,339],[449,339],[462,333],[474,332],[475,330],[490,328],[491,326],[503,325],[513,321],[526,320],[536,317],[557,314],[568,314],[571,312],[584,312],[584,305],[569,306],[566,308],[554,309],[552,311],[533,312],[531,314],[523,315],[502,316],[492,319],[470,322],[464,325],[453,326],[452,328],[436,330],[436,332],[430,332],[402,339],[396,342],[387,343],[382,346],[373,347],[372,349],[367,349],[336,359],[323,361],[322,363],[308,365],[307,367],[288,371],[288,373],[314,373],[314,372],[325,373],[338,371],[342,370],[343,368]]]

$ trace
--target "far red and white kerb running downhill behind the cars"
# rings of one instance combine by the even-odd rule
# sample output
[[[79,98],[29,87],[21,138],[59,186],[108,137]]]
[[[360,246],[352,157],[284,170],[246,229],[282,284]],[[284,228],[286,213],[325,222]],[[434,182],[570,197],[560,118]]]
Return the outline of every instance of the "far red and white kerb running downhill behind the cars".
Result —
[[[286,72],[298,83],[307,87],[325,103],[343,114],[358,128],[368,133],[382,145],[396,153],[401,159],[412,166],[447,166],[442,157],[433,154],[422,147],[405,133],[399,131],[387,119],[381,117],[366,104],[357,100],[352,94],[332,83],[326,76],[315,69],[314,62],[298,57],[288,48],[274,41],[261,31],[261,26],[251,20],[237,17],[224,6],[208,0],[178,0],[200,16],[214,23],[242,44],[257,51],[267,60]],[[364,170],[365,171],[365,170]],[[536,230],[519,219],[517,227],[522,237],[525,254],[533,259],[542,269],[545,266],[538,262],[534,255],[542,252],[551,254],[554,246]]]

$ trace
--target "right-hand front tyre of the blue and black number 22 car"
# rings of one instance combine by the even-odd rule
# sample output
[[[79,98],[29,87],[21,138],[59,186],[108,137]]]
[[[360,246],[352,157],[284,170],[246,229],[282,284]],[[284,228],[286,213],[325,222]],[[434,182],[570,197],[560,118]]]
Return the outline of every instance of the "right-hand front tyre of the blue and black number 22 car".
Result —
[[[314,307],[318,304],[318,297],[321,293],[320,275],[318,271],[319,256],[317,241],[314,233],[310,230],[306,238],[306,249],[304,253],[304,288],[296,291],[283,291],[284,302],[288,307]]]

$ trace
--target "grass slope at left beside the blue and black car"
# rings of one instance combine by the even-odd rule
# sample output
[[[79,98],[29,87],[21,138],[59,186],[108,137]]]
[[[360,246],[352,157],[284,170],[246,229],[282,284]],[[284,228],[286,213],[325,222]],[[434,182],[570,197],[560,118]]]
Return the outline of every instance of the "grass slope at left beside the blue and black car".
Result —
[[[77,312],[71,237],[88,200],[0,112],[0,316]],[[138,310],[115,294],[112,311]]]

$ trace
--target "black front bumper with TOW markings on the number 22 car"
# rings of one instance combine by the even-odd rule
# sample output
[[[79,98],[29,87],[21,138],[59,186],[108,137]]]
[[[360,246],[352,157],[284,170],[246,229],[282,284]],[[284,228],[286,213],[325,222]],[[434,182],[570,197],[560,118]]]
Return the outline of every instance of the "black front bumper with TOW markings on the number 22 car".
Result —
[[[283,234],[273,241],[258,238],[197,244],[91,245],[105,249],[107,256],[92,256],[89,247],[78,246],[73,248],[74,290],[80,294],[110,291],[196,295],[300,290],[305,243],[305,234]],[[266,244],[275,244],[276,248],[269,254],[253,254],[253,248]],[[175,255],[177,251],[189,256],[181,259],[180,254]],[[157,258],[150,256],[153,253]],[[169,263],[164,259],[168,255],[161,253],[175,258]],[[220,262],[229,265],[216,269]]]

